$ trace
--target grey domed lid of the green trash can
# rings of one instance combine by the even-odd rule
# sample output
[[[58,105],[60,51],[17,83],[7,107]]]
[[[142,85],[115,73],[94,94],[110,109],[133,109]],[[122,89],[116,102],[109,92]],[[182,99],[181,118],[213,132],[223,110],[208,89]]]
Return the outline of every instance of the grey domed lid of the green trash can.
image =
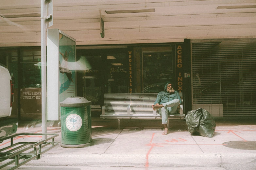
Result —
[[[88,101],[84,97],[68,97],[63,102],[60,102],[60,106],[66,107],[79,107],[79,106],[91,106],[92,102]]]

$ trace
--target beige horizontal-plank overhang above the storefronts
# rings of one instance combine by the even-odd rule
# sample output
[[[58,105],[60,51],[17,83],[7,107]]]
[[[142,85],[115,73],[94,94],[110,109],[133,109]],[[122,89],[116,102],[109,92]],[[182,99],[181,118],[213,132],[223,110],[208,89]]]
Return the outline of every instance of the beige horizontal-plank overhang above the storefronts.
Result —
[[[0,15],[40,13],[40,1],[0,0]],[[216,9],[256,5],[253,0],[75,0],[54,1],[54,25],[77,44],[173,42],[174,39],[256,36],[256,9]],[[107,14],[105,10],[149,9],[148,13]],[[105,16],[105,38],[99,34],[99,11]],[[0,47],[41,41],[40,17],[0,17]],[[38,34],[39,33],[39,34]],[[23,40],[23,41],[22,41]],[[152,40],[152,41],[151,41]]]

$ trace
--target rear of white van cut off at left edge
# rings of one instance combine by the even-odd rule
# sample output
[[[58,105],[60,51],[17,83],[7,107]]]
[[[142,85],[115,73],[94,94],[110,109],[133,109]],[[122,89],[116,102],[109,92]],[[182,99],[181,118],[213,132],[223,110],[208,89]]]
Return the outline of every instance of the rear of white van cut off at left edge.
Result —
[[[8,69],[0,64],[0,139],[16,133],[18,119],[9,118],[14,100],[14,89]]]

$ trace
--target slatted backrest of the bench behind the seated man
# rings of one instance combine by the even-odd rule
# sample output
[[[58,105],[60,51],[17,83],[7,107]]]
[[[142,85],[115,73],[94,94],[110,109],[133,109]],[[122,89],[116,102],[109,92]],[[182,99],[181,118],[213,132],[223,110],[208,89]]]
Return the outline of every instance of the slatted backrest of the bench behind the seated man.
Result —
[[[127,106],[130,106],[130,114],[153,114],[151,105],[156,101],[157,94],[158,93],[105,94],[105,114],[127,114]],[[182,100],[182,93],[179,93],[179,95]],[[179,113],[178,110],[177,113]]]

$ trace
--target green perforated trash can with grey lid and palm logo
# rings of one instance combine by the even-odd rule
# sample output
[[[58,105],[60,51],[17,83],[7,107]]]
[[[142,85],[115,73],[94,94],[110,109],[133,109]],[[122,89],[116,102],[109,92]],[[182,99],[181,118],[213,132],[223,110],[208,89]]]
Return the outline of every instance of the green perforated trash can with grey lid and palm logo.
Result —
[[[81,148],[92,141],[91,104],[84,97],[60,102],[61,147]]]

